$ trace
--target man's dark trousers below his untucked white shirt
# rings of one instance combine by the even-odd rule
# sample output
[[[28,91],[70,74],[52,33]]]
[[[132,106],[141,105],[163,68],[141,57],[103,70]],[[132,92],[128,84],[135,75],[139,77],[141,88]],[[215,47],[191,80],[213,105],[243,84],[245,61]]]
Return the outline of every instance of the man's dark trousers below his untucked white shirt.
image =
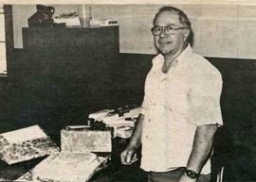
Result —
[[[178,168],[174,171],[164,173],[148,173],[148,182],[177,182],[184,173],[185,168]],[[200,174],[197,182],[210,182],[210,174]]]

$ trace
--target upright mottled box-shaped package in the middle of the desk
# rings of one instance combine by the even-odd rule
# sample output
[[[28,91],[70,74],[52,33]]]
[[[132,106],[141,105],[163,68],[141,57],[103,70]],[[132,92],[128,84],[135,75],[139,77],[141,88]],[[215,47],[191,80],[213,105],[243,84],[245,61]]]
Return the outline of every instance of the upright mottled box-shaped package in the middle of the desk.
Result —
[[[62,152],[111,152],[111,131],[97,131],[89,128],[63,129],[61,131]]]

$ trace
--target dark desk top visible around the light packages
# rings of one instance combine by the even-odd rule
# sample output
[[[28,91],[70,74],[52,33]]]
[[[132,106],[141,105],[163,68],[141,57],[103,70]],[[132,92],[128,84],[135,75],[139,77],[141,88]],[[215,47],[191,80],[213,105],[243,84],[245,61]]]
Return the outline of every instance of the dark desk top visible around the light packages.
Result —
[[[145,180],[144,174],[140,173],[139,170],[139,161],[131,166],[120,164],[119,153],[126,143],[127,141],[119,139],[113,141],[112,158],[108,162],[107,167],[94,174],[89,182],[143,182]],[[12,165],[0,161],[0,181],[13,181],[19,178],[45,158],[39,157]]]

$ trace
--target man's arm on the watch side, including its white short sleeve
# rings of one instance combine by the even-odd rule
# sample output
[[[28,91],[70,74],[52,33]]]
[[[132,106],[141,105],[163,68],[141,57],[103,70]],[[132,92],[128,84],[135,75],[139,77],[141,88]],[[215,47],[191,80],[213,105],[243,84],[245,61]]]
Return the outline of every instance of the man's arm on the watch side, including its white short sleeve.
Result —
[[[222,125],[220,96],[222,92],[222,76],[217,70],[206,67],[194,74],[190,101],[192,121],[196,125],[192,152],[187,162],[187,169],[200,173],[212,149],[214,134],[218,125]],[[186,180],[187,179],[187,180]],[[179,182],[195,182],[183,174]]]

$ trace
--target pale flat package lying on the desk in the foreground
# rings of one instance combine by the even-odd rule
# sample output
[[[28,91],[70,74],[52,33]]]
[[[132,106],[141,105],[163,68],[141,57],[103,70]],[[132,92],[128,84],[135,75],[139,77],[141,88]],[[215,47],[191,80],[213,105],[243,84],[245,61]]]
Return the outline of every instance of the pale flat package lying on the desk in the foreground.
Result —
[[[56,153],[34,168],[33,181],[86,182],[101,169],[105,161],[106,158],[92,153]]]

